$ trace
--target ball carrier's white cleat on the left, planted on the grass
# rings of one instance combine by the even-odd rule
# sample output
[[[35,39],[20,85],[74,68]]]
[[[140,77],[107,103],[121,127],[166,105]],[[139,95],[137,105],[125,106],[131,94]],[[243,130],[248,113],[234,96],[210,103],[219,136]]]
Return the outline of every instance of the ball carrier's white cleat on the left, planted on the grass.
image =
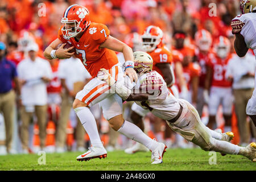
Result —
[[[89,150],[87,152],[85,152],[82,155],[77,156],[76,160],[78,161],[87,161],[90,159],[94,159],[94,158],[106,158],[107,155],[107,151],[105,150],[104,147],[99,148],[99,147],[89,147]]]

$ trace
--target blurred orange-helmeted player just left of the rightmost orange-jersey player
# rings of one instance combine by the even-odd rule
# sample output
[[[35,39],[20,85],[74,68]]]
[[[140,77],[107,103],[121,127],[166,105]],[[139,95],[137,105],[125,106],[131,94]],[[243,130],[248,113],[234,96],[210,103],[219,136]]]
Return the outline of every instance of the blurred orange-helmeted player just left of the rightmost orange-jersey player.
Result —
[[[212,56],[212,35],[210,35],[210,32],[208,32],[207,30],[199,30],[195,34],[195,42],[197,46],[197,49],[195,51],[196,59],[197,63],[199,63],[201,67],[196,109],[201,117],[203,113],[204,104],[208,104],[209,101],[209,98],[207,97],[208,95],[205,93],[206,90],[204,90],[204,84],[205,76],[207,73],[206,66],[208,64],[210,56]],[[204,97],[204,95],[206,96]]]

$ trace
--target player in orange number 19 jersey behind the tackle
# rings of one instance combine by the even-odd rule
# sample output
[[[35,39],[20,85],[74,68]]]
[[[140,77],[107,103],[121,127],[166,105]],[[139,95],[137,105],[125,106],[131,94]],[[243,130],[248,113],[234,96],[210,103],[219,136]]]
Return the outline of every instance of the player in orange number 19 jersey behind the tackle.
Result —
[[[154,60],[152,70],[157,71],[160,75],[163,76],[164,80],[167,83],[168,88],[174,96],[178,96],[178,91],[176,86],[174,85],[174,71],[172,69],[172,54],[168,50],[165,44],[163,44],[163,31],[157,26],[148,26],[144,33],[141,36],[142,38],[142,49],[146,51]],[[150,110],[145,110],[141,106],[137,104],[133,104],[131,107],[130,117],[135,123],[135,125],[139,126],[140,129],[144,130],[144,123],[142,118],[150,112]],[[162,119],[154,117],[154,131],[156,135],[156,139],[163,140],[162,132],[160,130],[162,125]],[[166,122],[164,122],[166,123]],[[171,131],[168,127],[166,127],[168,131],[167,135],[171,135]],[[167,137],[166,135],[166,137]],[[126,148],[125,152],[127,154],[134,154],[138,151],[147,151],[147,148],[142,146],[139,143],[136,143],[134,146],[130,148]]]

